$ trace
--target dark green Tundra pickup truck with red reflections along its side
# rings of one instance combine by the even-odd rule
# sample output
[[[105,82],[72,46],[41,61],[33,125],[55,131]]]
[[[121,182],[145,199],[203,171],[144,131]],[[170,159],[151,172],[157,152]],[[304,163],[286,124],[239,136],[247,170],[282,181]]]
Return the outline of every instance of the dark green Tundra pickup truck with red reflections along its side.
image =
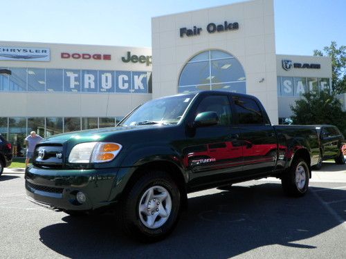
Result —
[[[272,126],[256,97],[204,91],[153,99],[116,127],[42,141],[26,193],[70,215],[116,210],[126,233],[156,241],[172,232],[188,193],[276,177],[302,196],[318,161],[315,128]]]

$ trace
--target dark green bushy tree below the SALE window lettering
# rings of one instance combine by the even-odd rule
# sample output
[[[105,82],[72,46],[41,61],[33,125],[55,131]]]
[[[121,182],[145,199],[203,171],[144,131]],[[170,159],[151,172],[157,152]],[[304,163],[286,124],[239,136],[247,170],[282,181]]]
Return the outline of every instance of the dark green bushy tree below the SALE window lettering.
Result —
[[[346,112],[340,100],[329,91],[304,93],[303,98],[291,106],[293,124],[331,124],[346,136]]]

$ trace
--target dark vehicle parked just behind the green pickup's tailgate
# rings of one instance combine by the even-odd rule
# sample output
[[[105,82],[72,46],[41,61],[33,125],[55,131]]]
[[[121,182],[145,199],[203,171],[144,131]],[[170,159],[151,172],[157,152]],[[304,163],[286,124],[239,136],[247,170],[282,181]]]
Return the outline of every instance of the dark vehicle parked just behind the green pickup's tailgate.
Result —
[[[313,169],[321,169],[322,161],[333,159],[336,164],[345,164],[346,140],[343,134],[333,125],[313,125],[320,138],[321,158]]]

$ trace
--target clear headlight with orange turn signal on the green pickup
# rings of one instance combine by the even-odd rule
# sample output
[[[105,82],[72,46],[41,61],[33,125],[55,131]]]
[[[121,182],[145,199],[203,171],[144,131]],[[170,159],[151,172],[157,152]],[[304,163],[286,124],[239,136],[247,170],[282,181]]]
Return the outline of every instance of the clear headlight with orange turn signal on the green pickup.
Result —
[[[103,163],[118,155],[122,146],[111,142],[86,142],[73,146],[69,163]]]

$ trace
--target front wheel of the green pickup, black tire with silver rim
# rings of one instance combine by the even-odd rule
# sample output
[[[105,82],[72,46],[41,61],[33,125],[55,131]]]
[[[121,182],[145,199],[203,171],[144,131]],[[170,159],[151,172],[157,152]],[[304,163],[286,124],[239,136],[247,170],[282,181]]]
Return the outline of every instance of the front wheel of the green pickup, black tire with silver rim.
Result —
[[[123,198],[122,227],[141,242],[162,240],[178,222],[181,193],[170,175],[163,171],[145,173]]]

